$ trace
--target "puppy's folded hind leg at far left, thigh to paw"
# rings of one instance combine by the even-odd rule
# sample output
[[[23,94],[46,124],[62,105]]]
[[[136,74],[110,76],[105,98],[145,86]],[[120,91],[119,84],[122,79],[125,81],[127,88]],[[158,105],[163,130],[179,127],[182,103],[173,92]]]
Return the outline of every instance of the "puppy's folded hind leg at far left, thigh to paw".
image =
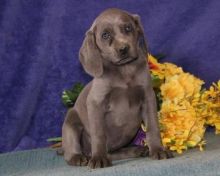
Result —
[[[88,158],[83,155],[80,145],[83,126],[74,108],[65,117],[62,127],[62,148],[64,159],[69,165],[86,166]]]

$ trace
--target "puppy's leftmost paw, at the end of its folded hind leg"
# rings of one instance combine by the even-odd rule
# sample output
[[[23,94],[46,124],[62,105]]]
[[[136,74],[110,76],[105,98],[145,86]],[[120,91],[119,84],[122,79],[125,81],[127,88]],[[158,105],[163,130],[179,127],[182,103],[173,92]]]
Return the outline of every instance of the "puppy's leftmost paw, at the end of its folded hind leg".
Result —
[[[75,154],[67,163],[71,166],[87,166],[88,158],[82,154]]]

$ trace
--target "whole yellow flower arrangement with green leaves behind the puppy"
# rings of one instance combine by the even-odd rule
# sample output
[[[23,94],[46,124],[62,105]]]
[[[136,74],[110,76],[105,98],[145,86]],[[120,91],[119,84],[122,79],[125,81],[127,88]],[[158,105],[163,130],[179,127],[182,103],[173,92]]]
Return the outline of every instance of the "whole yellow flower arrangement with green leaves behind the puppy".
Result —
[[[220,81],[205,90],[204,81],[186,73],[171,63],[159,63],[148,55],[148,65],[157,97],[158,118],[162,143],[166,148],[181,154],[184,150],[198,147],[201,151],[206,144],[204,133],[208,125],[220,134]],[[83,85],[76,83],[71,90],[62,94],[64,105],[74,105]],[[142,124],[142,131],[147,128]],[[143,133],[142,133],[143,134]],[[147,145],[145,135],[137,135],[136,144]],[[61,146],[61,138],[50,138]]]

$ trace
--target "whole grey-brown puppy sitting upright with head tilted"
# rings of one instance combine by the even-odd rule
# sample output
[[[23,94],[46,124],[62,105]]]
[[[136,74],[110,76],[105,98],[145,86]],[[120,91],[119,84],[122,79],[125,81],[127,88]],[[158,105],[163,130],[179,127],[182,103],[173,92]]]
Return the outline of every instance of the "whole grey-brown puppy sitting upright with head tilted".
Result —
[[[172,157],[161,144],[146,55],[139,16],[108,9],[95,19],[79,55],[94,79],[68,111],[62,128],[68,164],[100,168],[110,166],[112,159],[148,153],[156,159]],[[142,121],[149,148],[126,147]]]

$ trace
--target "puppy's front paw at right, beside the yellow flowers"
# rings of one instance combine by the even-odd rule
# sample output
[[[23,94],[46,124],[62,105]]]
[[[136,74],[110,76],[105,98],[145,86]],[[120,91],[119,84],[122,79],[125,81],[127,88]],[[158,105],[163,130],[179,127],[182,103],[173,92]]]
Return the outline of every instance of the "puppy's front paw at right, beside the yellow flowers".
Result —
[[[158,147],[158,148],[152,148],[150,150],[150,157],[152,159],[169,159],[169,158],[173,158],[173,154],[170,150],[166,150],[163,147]]]

